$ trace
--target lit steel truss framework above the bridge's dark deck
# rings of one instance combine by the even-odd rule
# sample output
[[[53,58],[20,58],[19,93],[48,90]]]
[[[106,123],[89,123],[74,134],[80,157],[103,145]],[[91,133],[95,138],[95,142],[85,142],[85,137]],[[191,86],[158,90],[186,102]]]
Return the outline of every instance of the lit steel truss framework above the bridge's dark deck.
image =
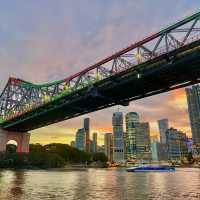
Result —
[[[199,41],[199,39],[200,12],[134,43],[64,80],[36,85],[10,77],[0,95],[0,124],[7,124],[9,121],[40,109],[50,102],[70,98],[84,88],[92,88],[93,94],[95,94],[94,85],[96,83],[130,69],[135,70],[139,79],[142,74],[138,66],[162,55],[168,62],[173,62],[174,58],[170,52]],[[123,101],[115,101],[115,104],[127,105]]]

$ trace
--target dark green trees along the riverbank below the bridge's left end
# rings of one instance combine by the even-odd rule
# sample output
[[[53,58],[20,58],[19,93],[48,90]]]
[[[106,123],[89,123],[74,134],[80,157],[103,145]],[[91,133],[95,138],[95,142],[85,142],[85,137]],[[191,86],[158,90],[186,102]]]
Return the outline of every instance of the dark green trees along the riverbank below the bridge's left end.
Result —
[[[7,151],[0,155],[0,168],[60,168],[67,164],[90,164],[107,162],[104,153],[87,153],[67,144],[30,144],[30,153],[17,153],[16,146],[7,145]]]

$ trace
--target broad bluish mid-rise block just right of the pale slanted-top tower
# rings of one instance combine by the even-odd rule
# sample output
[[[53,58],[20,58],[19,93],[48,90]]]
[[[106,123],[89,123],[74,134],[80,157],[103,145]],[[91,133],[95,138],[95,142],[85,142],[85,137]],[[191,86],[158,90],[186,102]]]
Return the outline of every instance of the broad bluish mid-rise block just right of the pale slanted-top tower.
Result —
[[[166,144],[168,159],[170,160],[181,160],[187,156],[187,137],[186,134],[170,128],[166,131]]]

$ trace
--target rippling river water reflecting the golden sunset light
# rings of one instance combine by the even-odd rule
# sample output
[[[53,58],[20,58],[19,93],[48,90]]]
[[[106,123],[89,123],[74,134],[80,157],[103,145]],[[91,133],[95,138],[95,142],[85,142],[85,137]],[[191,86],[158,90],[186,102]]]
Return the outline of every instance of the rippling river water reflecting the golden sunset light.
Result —
[[[2,170],[0,200],[200,200],[200,169]]]

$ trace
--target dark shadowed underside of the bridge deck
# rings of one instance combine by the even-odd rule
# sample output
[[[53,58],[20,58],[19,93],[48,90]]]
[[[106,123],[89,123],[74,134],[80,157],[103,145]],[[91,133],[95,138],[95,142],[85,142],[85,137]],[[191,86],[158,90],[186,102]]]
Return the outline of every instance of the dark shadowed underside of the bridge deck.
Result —
[[[3,127],[12,131],[30,131],[198,83],[199,78],[200,41],[197,41],[7,121]]]

